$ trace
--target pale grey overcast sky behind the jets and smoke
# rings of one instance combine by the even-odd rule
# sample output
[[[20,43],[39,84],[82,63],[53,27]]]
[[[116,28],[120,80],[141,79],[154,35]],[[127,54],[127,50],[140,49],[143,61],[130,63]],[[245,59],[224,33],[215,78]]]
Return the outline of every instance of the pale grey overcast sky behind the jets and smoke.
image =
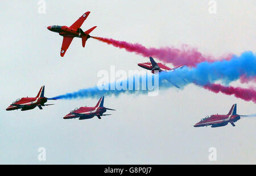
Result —
[[[117,111],[102,119],[63,119],[76,107],[96,105],[92,98],[49,101],[55,105],[43,110],[5,110],[16,98],[35,97],[42,85],[45,96],[53,97],[96,85],[98,71],[110,66],[142,70],[137,63],[148,58],[93,38],[85,48],[74,38],[60,57],[62,37],[46,27],[70,26],[86,11],[91,13],[81,28],[97,25],[92,36],[156,48],[188,44],[214,57],[255,53],[256,1],[216,2],[217,13],[209,14],[208,0],[55,0],[39,14],[38,1],[2,1],[0,164],[256,164],[255,118],[236,127],[193,127],[206,115],[227,114],[234,103],[238,114],[255,114],[255,104],[196,85],[155,97],[106,96],[104,105]],[[38,160],[39,147],[46,148],[46,161]],[[210,147],[217,149],[217,161],[208,160]]]

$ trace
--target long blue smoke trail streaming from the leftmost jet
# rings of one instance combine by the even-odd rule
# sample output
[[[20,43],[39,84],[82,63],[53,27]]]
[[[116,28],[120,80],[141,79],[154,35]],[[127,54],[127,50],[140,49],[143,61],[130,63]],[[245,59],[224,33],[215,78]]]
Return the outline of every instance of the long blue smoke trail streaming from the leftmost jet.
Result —
[[[240,79],[240,76],[246,76],[246,78],[253,78],[256,76],[256,56],[251,51],[246,51],[237,57],[233,56],[229,61],[216,61],[216,62],[201,62],[194,68],[183,67],[175,71],[160,72],[159,73],[159,90],[172,88],[174,85],[178,85],[183,89],[186,85],[195,83],[203,86],[221,81],[223,84],[228,85],[232,81]],[[137,75],[138,76],[138,75]],[[133,79],[135,76],[133,77]],[[148,75],[139,75],[139,81],[142,83],[143,80],[148,80]],[[152,77],[153,84],[155,83],[154,77]],[[124,80],[127,87],[129,86],[129,79]],[[122,84],[116,82],[117,84]],[[144,94],[148,93],[149,90],[142,90],[141,87],[137,91],[133,90],[110,90],[112,84],[109,83],[109,90],[100,90],[97,86],[91,88],[80,89],[79,91],[66,93],[64,95],[52,97],[56,99],[73,99],[73,98],[94,98],[102,95],[114,95],[119,96],[121,93],[131,94]],[[141,84],[139,84],[141,85]],[[135,88],[135,81],[133,81],[133,88]]]

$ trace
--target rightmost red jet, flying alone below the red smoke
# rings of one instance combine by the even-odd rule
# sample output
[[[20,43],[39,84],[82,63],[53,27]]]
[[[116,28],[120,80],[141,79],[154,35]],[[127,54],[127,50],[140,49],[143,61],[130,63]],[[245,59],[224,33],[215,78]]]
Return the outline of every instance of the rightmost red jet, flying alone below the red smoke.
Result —
[[[207,117],[201,119],[200,122],[196,123],[194,127],[203,127],[210,125],[212,128],[214,127],[221,127],[226,126],[228,123],[230,123],[233,127],[234,122],[237,122],[240,117],[245,117],[248,115],[238,115],[237,114],[237,104],[234,104],[232,108],[229,110],[229,113],[226,115],[210,115],[210,117],[207,115]]]

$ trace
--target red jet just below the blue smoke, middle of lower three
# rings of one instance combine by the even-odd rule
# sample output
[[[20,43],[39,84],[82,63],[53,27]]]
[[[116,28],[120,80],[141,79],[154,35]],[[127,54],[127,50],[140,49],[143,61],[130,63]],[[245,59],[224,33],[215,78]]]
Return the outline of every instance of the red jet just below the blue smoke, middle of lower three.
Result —
[[[85,106],[85,107],[76,108],[70,111],[70,113],[65,115],[65,117],[63,118],[64,119],[79,118],[79,120],[83,120],[83,119],[89,119],[89,118],[93,118],[94,116],[97,116],[99,119],[101,119],[101,116],[103,115],[111,115],[111,114],[103,114],[103,113],[105,113],[106,110],[114,110],[114,109],[105,108],[103,104],[104,104],[104,96],[100,98],[96,106],[94,107]]]

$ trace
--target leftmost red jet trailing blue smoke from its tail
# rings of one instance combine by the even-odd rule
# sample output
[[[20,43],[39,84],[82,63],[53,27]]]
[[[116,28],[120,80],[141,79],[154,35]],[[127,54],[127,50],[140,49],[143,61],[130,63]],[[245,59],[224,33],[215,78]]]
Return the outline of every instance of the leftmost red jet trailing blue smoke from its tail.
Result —
[[[40,88],[38,95],[34,98],[25,97],[14,101],[6,110],[30,110],[36,108],[38,106],[39,109],[43,109],[42,106],[54,105],[48,104],[45,105],[47,100],[55,100],[44,97],[44,86]]]

